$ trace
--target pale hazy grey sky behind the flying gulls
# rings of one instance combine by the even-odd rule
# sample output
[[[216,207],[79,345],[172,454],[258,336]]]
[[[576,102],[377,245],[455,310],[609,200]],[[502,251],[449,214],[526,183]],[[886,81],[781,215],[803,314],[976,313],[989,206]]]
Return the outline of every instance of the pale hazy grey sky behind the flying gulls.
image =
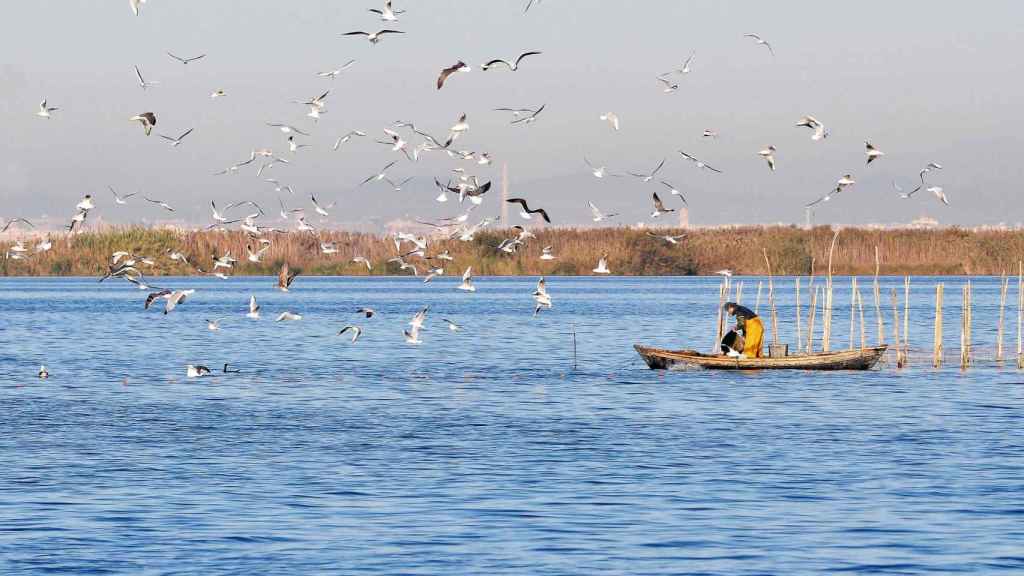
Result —
[[[846,173],[857,184],[817,209],[816,223],[1024,219],[1015,133],[1024,124],[1024,3],[542,0],[524,14],[524,0],[397,0],[407,12],[386,26],[368,11],[381,4],[148,0],[136,17],[126,0],[10,3],[0,36],[8,54],[0,63],[0,217],[70,218],[85,194],[97,199],[90,217],[106,222],[168,215],[138,197],[115,205],[110,186],[164,200],[194,224],[211,221],[210,201],[254,200],[275,218],[278,193],[256,177],[258,162],[213,175],[271,148],[292,162],[263,177],[292,187],[290,208],[311,213],[310,195],[336,203],[331,227],[455,215],[455,202],[433,200],[433,178],[459,166],[495,180],[474,218],[496,215],[506,163],[511,195],[546,208],[555,224],[593,224],[588,201],[628,224],[651,222],[654,192],[682,206],[656,181],[594,178],[585,156],[611,171],[649,171],[668,159],[658,175],[685,194],[694,224],[803,222],[804,205]],[[406,34],[376,46],[339,35],[380,28]],[[774,57],[743,38],[752,32],[772,43]],[[524,50],[544,53],[515,73],[479,68]],[[208,55],[182,66],[167,51]],[[691,53],[690,74],[675,77],[679,90],[663,93],[655,77]],[[356,63],[342,76],[316,77],[348,59]],[[436,90],[438,72],[460,59],[473,70]],[[133,66],[160,84],[142,90]],[[211,99],[217,89],[227,95]],[[327,89],[315,124],[291,101]],[[44,97],[60,109],[50,120],[35,116]],[[493,110],[541,105],[525,127]],[[195,131],[178,148],[146,137],[129,118],[147,111],[157,114],[155,132]],[[606,112],[621,118],[620,131],[598,119]],[[453,148],[488,152],[490,166],[440,153],[412,163],[374,141],[396,120],[440,137],[462,113],[470,130]],[[807,114],[828,127],[827,139],[794,126]],[[290,154],[267,122],[302,127],[310,147]],[[351,129],[372,137],[333,152]],[[703,138],[705,129],[720,136]],[[870,166],[865,140],[886,152]],[[774,173],[757,154],[769,145],[778,151]],[[679,150],[724,173],[697,169]],[[392,176],[415,178],[402,191],[358,186],[391,160],[399,160]],[[893,190],[894,180],[915,187],[929,162],[944,166],[929,183],[944,188],[950,206]]]

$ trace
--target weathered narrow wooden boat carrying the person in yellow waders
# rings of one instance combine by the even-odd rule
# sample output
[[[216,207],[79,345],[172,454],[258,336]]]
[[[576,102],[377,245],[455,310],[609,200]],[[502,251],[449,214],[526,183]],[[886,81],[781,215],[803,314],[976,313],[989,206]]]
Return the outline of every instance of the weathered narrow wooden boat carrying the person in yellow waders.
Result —
[[[889,346],[785,356],[777,358],[733,358],[695,351],[668,351],[636,344],[640,357],[651,370],[708,368],[712,370],[869,370]]]

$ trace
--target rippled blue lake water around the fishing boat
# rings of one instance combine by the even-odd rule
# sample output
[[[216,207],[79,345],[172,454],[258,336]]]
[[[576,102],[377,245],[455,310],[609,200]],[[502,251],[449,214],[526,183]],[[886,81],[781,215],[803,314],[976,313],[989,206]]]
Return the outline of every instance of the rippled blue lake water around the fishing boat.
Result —
[[[952,366],[945,281],[941,370],[915,279],[909,369],[665,373],[632,344],[710,348],[717,279],[551,278],[538,318],[536,279],[169,279],[197,293],[166,317],[121,282],[3,279],[0,574],[1024,573],[1024,374],[990,362],[992,279]]]

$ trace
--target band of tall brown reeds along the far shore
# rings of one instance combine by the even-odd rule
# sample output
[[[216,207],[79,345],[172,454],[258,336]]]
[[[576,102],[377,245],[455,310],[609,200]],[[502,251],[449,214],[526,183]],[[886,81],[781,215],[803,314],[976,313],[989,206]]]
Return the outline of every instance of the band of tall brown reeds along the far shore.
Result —
[[[515,254],[496,248],[509,231],[487,231],[471,242],[432,239],[428,254],[449,250],[455,262],[449,274],[461,273],[468,265],[474,274],[511,275],[589,275],[598,258],[608,255],[612,274],[627,276],[702,275],[721,269],[735,274],[765,274],[762,249],[777,275],[804,275],[811,262],[827,258],[833,231],[826,227],[803,230],[795,227],[749,227],[708,230],[659,230],[658,234],[689,236],[673,246],[645,231],[625,228],[549,229],[537,231],[537,238]],[[156,260],[151,275],[199,274],[193,268],[170,260],[170,250],[186,254],[205,271],[212,268],[212,255],[230,252],[240,261],[231,274],[274,274],[282,262],[305,275],[387,275],[399,274],[395,264],[393,241],[387,237],[347,232],[279,234],[271,241],[263,260],[246,260],[246,245],[251,240],[241,232],[176,232],[141,228],[121,228],[81,235],[53,235],[53,248],[32,254],[25,260],[4,258],[4,276],[93,276],[106,270],[111,254],[118,250],[150,256]],[[335,242],[339,253],[321,253],[321,241]],[[6,253],[12,242],[0,242]],[[27,243],[31,249],[32,242]],[[409,244],[403,250],[409,249]],[[551,246],[556,258],[541,260],[541,249]],[[1014,270],[1024,257],[1024,232],[946,230],[865,230],[845,229],[835,254],[836,274],[871,275],[874,272],[874,247],[882,256],[882,274],[889,275],[996,275]],[[368,272],[351,258],[361,255],[374,264]],[[427,263],[410,258],[418,269]],[[820,268],[820,266],[818,266]],[[408,273],[400,273],[408,274]]]

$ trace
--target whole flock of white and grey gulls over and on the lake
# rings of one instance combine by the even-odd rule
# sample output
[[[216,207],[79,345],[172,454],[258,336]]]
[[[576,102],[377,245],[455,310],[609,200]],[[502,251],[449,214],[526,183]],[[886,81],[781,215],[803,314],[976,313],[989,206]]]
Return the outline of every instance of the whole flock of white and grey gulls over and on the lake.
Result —
[[[145,0],[129,0],[130,8],[135,15],[142,14],[144,3]],[[541,4],[541,0],[529,0],[525,4],[523,12],[528,12],[531,8],[536,8],[539,4]],[[397,28],[399,27],[399,20],[407,14],[407,11],[395,8],[392,5],[391,0],[386,0],[383,2],[382,7],[370,8],[369,11],[375,14],[377,18],[383,23],[383,28],[376,31],[373,29],[370,29],[369,31],[355,30],[343,33],[341,36],[365,38],[371,45],[376,45],[385,39],[398,39],[406,34]],[[761,36],[757,34],[745,34],[743,37],[752,40],[756,46],[763,46],[767,50],[768,55],[771,57],[775,56],[774,47]],[[195,63],[200,63],[207,56],[205,53],[191,56],[180,56],[171,51],[167,51],[166,54],[175,61],[180,63],[182,66],[201,66]],[[521,68],[528,68],[529,63],[534,61],[535,58],[542,57],[543,52],[541,50],[525,50],[516,53],[513,57],[487,59],[479,66],[479,69],[481,72],[504,70],[507,73],[515,73]],[[679,89],[679,79],[691,74],[694,58],[695,54],[690,54],[683,61],[680,68],[671,70],[667,73],[658,74],[654,77],[665,93],[672,93]],[[315,76],[322,79],[334,80],[343,75],[346,70],[354,65],[355,60],[349,60],[336,69],[317,72]],[[139,67],[135,66],[133,68],[138,85],[142,90],[148,90],[160,85],[158,81],[146,79]],[[461,82],[460,80],[457,80],[457,78],[471,71],[472,67],[461,59],[451,66],[441,67],[436,77],[436,81],[434,82],[436,89],[442,90],[452,82]],[[331,93],[332,90],[328,89],[312,97],[296,99],[293,100],[293,102],[306,107],[307,113],[305,115],[305,121],[311,122],[312,126],[315,127],[317,120],[328,112],[327,107]],[[225,90],[217,89],[210,94],[210,97],[220,98],[225,97],[226,95],[227,92]],[[496,108],[494,110],[496,112],[510,114],[511,119],[509,120],[509,124],[512,126],[529,126],[543,119],[542,113],[544,113],[546,105],[532,108],[506,107]],[[59,110],[60,109],[57,107],[50,106],[48,100],[44,98],[40,102],[39,110],[36,112],[36,115],[42,119],[51,120],[56,116],[55,113]],[[145,136],[151,135],[158,126],[158,116],[154,112],[142,112],[130,116],[128,119],[132,122],[138,122]],[[606,123],[608,128],[612,131],[620,130],[622,126],[622,119],[615,112],[606,112],[601,114],[598,117],[598,120]],[[825,125],[810,115],[804,116],[798,120],[795,125],[800,128],[809,129],[811,132],[811,139],[814,141],[825,140],[830,135],[830,132]],[[295,232],[317,235],[317,225],[307,221],[306,219],[306,208],[289,208],[286,205],[281,193],[287,193],[289,197],[294,197],[295,191],[292,187],[284,183],[278,178],[265,177],[270,170],[273,170],[273,173],[276,174],[280,170],[275,168],[279,166],[288,166],[299,161],[301,158],[301,151],[311,146],[308,142],[303,141],[302,138],[310,136],[310,132],[313,128],[303,128],[293,123],[276,121],[267,122],[266,126],[280,131],[285,136],[284,146],[287,147],[287,154],[279,154],[272,149],[253,149],[248,158],[236,162],[222,170],[213,172],[213,174],[233,175],[241,173],[243,170],[254,168],[256,177],[261,179],[261,181],[265,184],[273,187],[274,192],[278,193],[278,201],[280,205],[279,214],[282,220],[291,221],[294,219]],[[194,128],[187,128],[172,134],[158,133],[158,136],[168,142],[170,147],[177,148],[186,143],[186,138],[193,133],[193,131]],[[459,166],[453,169],[451,176],[446,179],[446,181],[442,181],[440,178],[434,178],[434,186],[437,192],[437,196],[434,200],[438,203],[446,203],[454,199],[458,202],[460,208],[462,208],[460,212],[457,215],[440,218],[436,221],[419,221],[419,223],[423,225],[435,229],[438,237],[469,242],[472,241],[480,231],[498,222],[497,218],[487,217],[475,223],[470,223],[470,216],[473,210],[483,203],[485,195],[492,188],[492,182],[489,180],[484,180],[478,175],[472,173],[472,169],[474,166],[481,168],[489,166],[493,162],[493,158],[486,151],[460,150],[460,148],[458,148],[461,143],[460,138],[463,138],[469,131],[470,123],[466,114],[462,114],[451,125],[446,134],[442,137],[437,137],[421,129],[412,121],[401,120],[394,122],[391,126],[382,128],[382,135],[380,138],[370,138],[370,132],[368,131],[350,130],[335,140],[333,151],[338,151],[342,146],[345,146],[353,138],[370,138],[373,141],[386,147],[388,153],[396,156],[396,158],[384,163],[379,170],[376,170],[374,173],[362,179],[359,186],[381,186],[382,183],[386,183],[395,191],[400,191],[402,187],[412,179],[412,177],[401,177],[394,173],[400,170],[403,165],[401,163],[403,162],[417,162],[423,155],[426,154],[442,154],[446,155],[454,161],[469,163],[468,166]],[[714,139],[717,138],[718,135],[718,132],[713,129],[707,129],[703,131],[705,138]],[[678,153],[683,160],[689,162],[698,170],[716,174],[724,172],[723,169],[713,166],[707,161],[685,151],[679,150]],[[776,170],[778,166],[777,157],[779,151],[775,146],[767,146],[757,154],[764,159],[770,171],[774,172]],[[872,163],[885,157],[885,153],[870,142],[865,142],[865,155],[866,166],[870,166]],[[651,186],[659,187],[660,189],[664,189],[663,194],[669,195],[667,198],[676,196],[680,199],[683,205],[686,204],[685,196],[671,182],[663,179],[658,175],[666,165],[666,159],[663,159],[660,163],[649,171],[625,171],[621,173],[613,172],[604,165],[595,165],[586,157],[584,157],[583,160],[595,178],[632,177],[642,184],[650,183]],[[894,181],[893,187],[899,193],[901,198],[911,198],[918,192],[925,190],[926,192],[934,195],[944,204],[948,204],[949,202],[943,188],[941,186],[933,186],[928,181],[930,173],[941,169],[942,166],[937,163],[930,163],[928,166],[923,168],[919,173],[921,182],[920,186],[914,188],[909,193],[904,192],[903,188],[900,187],[898,182]],[[811,209],[818,204],[828,202],[847,189],[853,187],[855,183],[856,179],[852,174],[845,174],[837,180],[835,188],[833,188],[827,194],[808,203],[806,207]],[[137,196],[137,194],[119,195],[113,188],[110,189],[110,192],[113,195],[113,201],[116,205],[125,205],[133,197]],[[164,200],[144,196],[141,198],[145,202],[153,204],[156,208],[161,210],[165,210],[167,212],[175,211],[174,207]],[[657,192],[652,192],[650,199],[652,206],[650,218],[658,218],[677,211],[677,208],[667,206]],[[507,199],[507,202],[519,208],[519,216],[523,220],[529,221],[535,217],[539,217],[547,223],[552,223],[553,221],[548,210],[544,207],[538,206],[536,200],[527,200],[526,198],[509,198]],[[618,216],[617,213],[608,213],[600,210],[593,202],[588,202],[588,204],[592,214],[592,219],[595,222],[611,220],[612,218]],[[314,196],[309,197],[309,205],[311,206],[312,212],[322,218],[329,217],[331,213],[330,211],[334,207],[333,202],[324,203],[317,201]],[[82,200],[75,206],[74,215],[71,217],[67,227],[68,232],[80,233],[85,227],[89,214],[95,208],[95,199],[93,199],[91,195],[85,195],[84,198],[82,198]],[[243,209],[248,210],[243,212]],[[263,207],[251,200],[233,202],[223,206],[222,208],[218,208],[215,202],[211,202],[211,222],[208,230],[223,230],[225,227],[238,224],[239,230],[243,231],[249,238],[249,242],[246,247],[247,260],[250,262],[260,262],[272,244],[270,238],[272,238],[275,234],[284,234],[288,232],[283,229],[264,225],[261,218],[263,218],[265,214],[266,213]],[[15,217],[4,222],[0,232],[5,232],[13,225],[34,228],[33,223],[28,219],[24,217]],[[525,246],[528,240],[536,238],[529,230],[522,225],[514,225],[509,230],[512,236],[506,238],[498,246],[496,246],[496,250],[499,252],[514,254]],[[685,238],[685,235],[673,236],[657,234],[650,231],[647,232],[647,235],[655,241],[660,241],[668,245],[678,245],[680,241]],[[417,236],[415,234],[399,232],[395,233],[393,242],[395,255],[394,257],[388,259],[384,265],[393,264],[399,272],[408,271],[414,276],[420,276],[422,271],[425,283],[430,282],[438,276],[443,276],[445,274],[445,265],[454,259],[447,254],[447,251],[432,253],[427,236]],[[18,241],[13,247],[8,249],[7,257],[11,259],[26,259],[31,257],[33,253],[42,253],[49,250],[51,247],[52,244],[49,240],[39,241],[33,248],[29,248],[25,246],[22,241]],[[319,242],[319,250],[324,254],[337,254],[340,251],[335,243],[328,241]],[[236,259],[236,257],[229,252],[225,252],[220,255],[213,254],[209,270],[204,270],[203,266],[205,264],[193,261],[194,258],[190,258],[180,251],[168,250],[164,256],[172,261],[188,264],[200,274],[208,274],[221,279],[229,278],[229,271],[233,268],[234,263],[238,262],[238,259]],[[554,254],[552,246],[543,247],[540,255],[542,260],[552,260],[556,257],[557,256]],[[366,265],[368,271],[372,271],[374,266],[374,262],[358,254],[353,255],[351,261],[353,263]],[[121,279],[132,283],[139,289],[152,290],[148,292],[148,295],[144,300],[143,308],[148,310],[154,307],[155,303],[161,301],[163,303],[163,314],[166,315],[183,304],[186,299],[195,293],[195,290],[160,287],[152,284],[145,278],[142,271],[143,266],[153,266],[154,264],[155,260],[150,256],[119,251],[112,255],[112,261],[109,264],[109,270],[100,279],[100,282],[109,278]],[[419,266],[417,264],[419,264]],[[611,271],[608,268],[607,254],[600,257],[596,266],[593,269],[593,273],[599,275],[611,274]],[[285,292],[289,291],[296,279],[296,273],[292,272],[286,262],[282,266],[279,274],[278,288]],[[476,291],[471,266],[465,268],[462,274],[462,282],[457,286],[457,290],[466,293],[473,293]],[[539,315],[542,311],[550,310],[552,307],[552,298],[548,293],[546,281],[543,277],[538,281],[536,290],[530,294],[530,296],[534,299],[534,316]],[[374,316],[373,311],[368,308],[360,308],[358,313],[367,319]],[[421,331],[424,329],[427,315],[427,307],[424,307],[416,313],[413,319],[409,322],[409,328],[403,330],[406,342],[410,344],[419,344],[422,342]],[[255,296],[250,296],[248,312],[245,316],[252,320],[258,320],[260,318],[260,306],[256,302]],[[301,319],[302,315],[297,312],[284,311],[276,316],[275,320],[278,322],[294,322],[300,321]],[[443,319],[443,321],[452,331],[458,331],[461,329],[458,324],[452,322],[451,320]],[[220,329],[219,320],[208,320],[207,325],[210,330]],[[359,339],[362,331],[364,328],[361,326],[350,324],[344,326],[338,334],[350,335],[351,342],[354,343]],[[45,371],[45,367],[43,367],[40,372],[41,376]],[[224,367],[224,371],[227,371],[227,366]],[[188,367],[189,376],[202,376],[208,373],[210,373],[210,370],[203,366]]]

